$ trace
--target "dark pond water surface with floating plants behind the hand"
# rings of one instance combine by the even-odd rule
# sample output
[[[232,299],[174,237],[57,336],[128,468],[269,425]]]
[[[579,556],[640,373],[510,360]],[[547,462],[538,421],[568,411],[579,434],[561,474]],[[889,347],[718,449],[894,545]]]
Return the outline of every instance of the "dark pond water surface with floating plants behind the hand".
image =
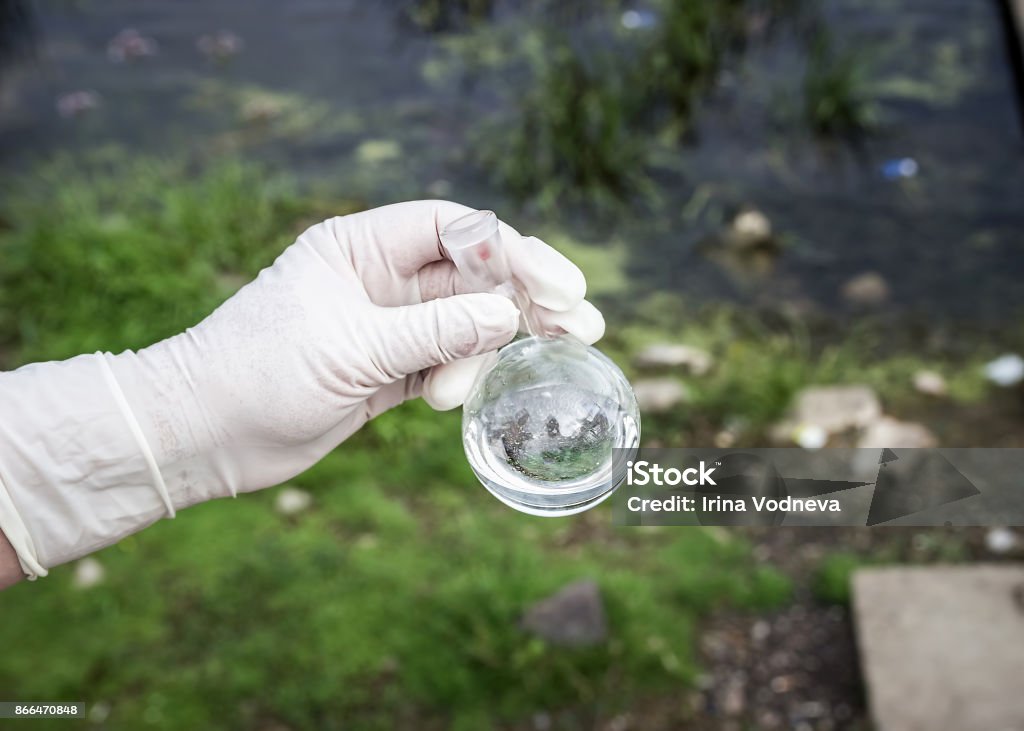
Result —
[[[465,160],[467,137],[495,103],[486,83],[438,81],[430,69],[446,57],[444,40],[412,27],[396,3],[27,7],[32,28],[20,36],[31,33],[32,49],[4,61],[0,81],[3,172],[111,142],[167,154],[233,150],[326,176],[339,197],[379,204],[444,196],[515,219],[512,204]],[[556,223],[625,242],[630,274],[644,291],[843,313],[843,283],[877,271],[893,313],[1015,321],[1024,311],[1024,139],[995,0],[820,7],[833,35],[862,56],[879,132],[849,144],[787,126],[787,103],[799,106],[798,44],[784,32],[755,37],[710,94],[694,141],[658,161],[663,200],[653,213],[644,206],[612,224]],[[157,54],[113,61],[108,43],[125,28],[154,39]],[[197,41],[221,30],[245,45],[216,62]],[[98,107],[61,117],[56,99],[77,90],[95,92]],[[887,180],[882,166],[900,158],[912,158],[918,174]],[[755,263],[709,257],[709,234],[744,204],[768,216],[781,253]],[[518,220],[550,223],[536,213]]]

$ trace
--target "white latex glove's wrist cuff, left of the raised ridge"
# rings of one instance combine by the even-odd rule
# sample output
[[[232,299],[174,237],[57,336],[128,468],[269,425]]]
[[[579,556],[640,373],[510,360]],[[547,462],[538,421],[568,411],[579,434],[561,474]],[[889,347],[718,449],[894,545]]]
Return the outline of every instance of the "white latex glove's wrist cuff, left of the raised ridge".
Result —
[[[169,513],[137,424],[111,389],[105,358],[0,374],[0,524],[30,575]]]

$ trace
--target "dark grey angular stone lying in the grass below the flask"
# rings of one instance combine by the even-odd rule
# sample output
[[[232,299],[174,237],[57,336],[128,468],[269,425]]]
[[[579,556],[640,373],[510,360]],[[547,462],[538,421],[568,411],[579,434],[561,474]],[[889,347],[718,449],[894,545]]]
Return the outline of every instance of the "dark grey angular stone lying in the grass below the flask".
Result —
[[[523,613],[520,626],[552,645],[598,645],[608,637],[604,601],[597,583],[585,579],[563,587]]]

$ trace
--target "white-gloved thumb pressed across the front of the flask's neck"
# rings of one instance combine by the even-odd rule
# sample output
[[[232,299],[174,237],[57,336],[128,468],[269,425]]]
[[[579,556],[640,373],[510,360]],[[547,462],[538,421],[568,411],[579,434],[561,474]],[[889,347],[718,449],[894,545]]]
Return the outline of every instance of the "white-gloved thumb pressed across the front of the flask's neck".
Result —
[[[455,295],[377,311],[370,354],[388,381],[495,350],[519,329],[518,308],[492,294]]]

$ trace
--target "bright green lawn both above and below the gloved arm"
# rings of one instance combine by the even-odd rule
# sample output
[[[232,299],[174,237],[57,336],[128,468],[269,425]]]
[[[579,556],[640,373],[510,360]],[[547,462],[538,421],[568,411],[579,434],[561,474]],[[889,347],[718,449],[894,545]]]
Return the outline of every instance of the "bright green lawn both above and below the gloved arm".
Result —
[[[10,363],[177,332],[346,209],[239,162],[114,153],[46,166],[3,201]],[[698,673],[701,616],[788,594],[725,531],[510,511],[467,467],[458,414],[422,403],[293,483],[313,496],[300,516],[279,515],[273,490],[218,501],[99,553],[97,587],[65,566],[5,592],[4,696],[81,699],[110,729],[488,728],[674,694]],[[583,577],[607,604],[605,644],[519,629],[526,606]]]

